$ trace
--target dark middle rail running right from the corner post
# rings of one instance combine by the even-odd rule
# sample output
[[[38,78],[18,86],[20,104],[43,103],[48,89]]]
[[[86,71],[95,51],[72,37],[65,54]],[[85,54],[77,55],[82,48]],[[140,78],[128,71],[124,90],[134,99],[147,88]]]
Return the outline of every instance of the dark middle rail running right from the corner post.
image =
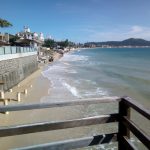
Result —
[[[140,129],[133,121],[127,117],[122,118],[122,122],[132,133],[148,148],[150,149],[150,137]]]

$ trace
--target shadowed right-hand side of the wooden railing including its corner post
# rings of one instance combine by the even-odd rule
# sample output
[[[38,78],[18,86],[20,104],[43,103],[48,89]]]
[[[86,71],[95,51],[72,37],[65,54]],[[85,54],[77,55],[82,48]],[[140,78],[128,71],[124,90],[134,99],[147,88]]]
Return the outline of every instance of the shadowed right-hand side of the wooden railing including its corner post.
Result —
[[[130,97],[123,97],[119,102],[119,132],[118,142],[119,150],[125,149],[124,143],[128,145],[125,150],[135,149],[131,142],[127,139],[130,138],[130,131],[148,148],[150,149],[150,137],[140,129],[133,121],[130,120],[130,108],[133,108],[145,118],[150,120],[150,111],[145,109],[142,105],[132,100]],[[124,138],[126,137],[126,139]]]

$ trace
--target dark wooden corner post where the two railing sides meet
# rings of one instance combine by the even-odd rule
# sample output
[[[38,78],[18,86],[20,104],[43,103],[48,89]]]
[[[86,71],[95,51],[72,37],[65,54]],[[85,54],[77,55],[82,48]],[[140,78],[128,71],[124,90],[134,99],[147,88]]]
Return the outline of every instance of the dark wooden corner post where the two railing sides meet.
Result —
[[[130,107],[125,103],[125,98],[119,102],[119,127],[118,127],[118,150],[127,150],[123,137],[130,138],[129,129],[123,124],[123,117],[130,119]]]

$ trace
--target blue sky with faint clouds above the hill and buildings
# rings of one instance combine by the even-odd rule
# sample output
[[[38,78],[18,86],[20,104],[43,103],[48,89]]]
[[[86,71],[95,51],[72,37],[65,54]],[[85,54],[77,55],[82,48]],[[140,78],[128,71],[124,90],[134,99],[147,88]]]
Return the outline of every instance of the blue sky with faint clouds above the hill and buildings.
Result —
[[[150,40],[150,0],[0,0],[0,17],[56,40]]]

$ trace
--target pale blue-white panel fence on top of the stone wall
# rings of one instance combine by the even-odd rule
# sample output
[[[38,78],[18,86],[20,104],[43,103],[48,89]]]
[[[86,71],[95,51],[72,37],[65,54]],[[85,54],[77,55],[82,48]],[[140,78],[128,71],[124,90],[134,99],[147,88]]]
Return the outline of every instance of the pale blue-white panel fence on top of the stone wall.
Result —
[[[0,47],[0,55],[26,53],[37,51],[37,48],[33,47],[16,47],[16,46],[3,46]]]

